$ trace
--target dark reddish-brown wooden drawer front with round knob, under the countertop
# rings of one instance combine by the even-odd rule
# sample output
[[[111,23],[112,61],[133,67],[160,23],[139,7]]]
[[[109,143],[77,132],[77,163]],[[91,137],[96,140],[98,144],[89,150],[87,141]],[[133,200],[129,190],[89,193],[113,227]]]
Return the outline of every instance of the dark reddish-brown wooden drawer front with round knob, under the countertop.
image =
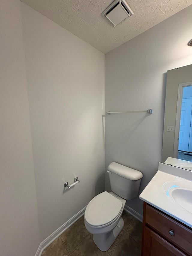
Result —
[[[192,230],[148,204],[146,205],[146,224],[181,248],[182,251],[192,256]],[[169,234],[169,230],[173,230],[174,236]]]

